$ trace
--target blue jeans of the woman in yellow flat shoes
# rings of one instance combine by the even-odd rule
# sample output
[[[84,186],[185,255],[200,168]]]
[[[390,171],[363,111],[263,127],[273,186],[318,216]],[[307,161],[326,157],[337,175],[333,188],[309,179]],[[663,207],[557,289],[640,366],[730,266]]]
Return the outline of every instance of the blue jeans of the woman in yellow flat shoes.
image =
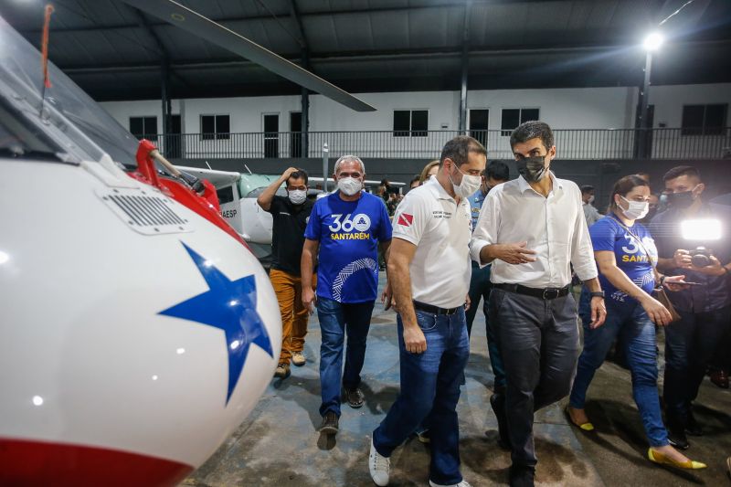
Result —
[[[607,320],[594,330],[588,327],[590,317],[582,312],[584,351],[578,358],[577,376],[568,404],[571,408],[584,408],[591,379],[604,362],[614,340],[619,337],[630,367],[632,396],[640,409],[645,435],[652,447],[668,445],[668,433],[662,424],[657,391],[655,324],[638,302],[619,304],[607,300],[606,304]]]

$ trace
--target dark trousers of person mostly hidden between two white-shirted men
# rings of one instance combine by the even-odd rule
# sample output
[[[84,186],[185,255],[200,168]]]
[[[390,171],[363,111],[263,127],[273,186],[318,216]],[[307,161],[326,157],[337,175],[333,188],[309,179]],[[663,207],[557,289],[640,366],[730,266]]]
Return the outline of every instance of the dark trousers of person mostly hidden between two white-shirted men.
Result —
[[[472,260],[472,277],[470,279],[470,309],[467,310],[467,334],[471,334],[472,322],[479,309],[480,299],[482,298],[482,312],[485,315],[485,335],[487,336],[487,350],[490,354],[490,365],[493,367],[493,375],[495,376],[494,390],[495,392],[504,391],[505,389],[505,368],[503,365],[503,357],[500,355],[500,349],[497,346],[497,338],[495,336],[494,325],[491,325],[490,316],[488,314],[488,304],[490,302],[490,291],[493,290],[493,283],[490,282],[490,269],[492,266],[485,266],[480,269],[477,262]]]

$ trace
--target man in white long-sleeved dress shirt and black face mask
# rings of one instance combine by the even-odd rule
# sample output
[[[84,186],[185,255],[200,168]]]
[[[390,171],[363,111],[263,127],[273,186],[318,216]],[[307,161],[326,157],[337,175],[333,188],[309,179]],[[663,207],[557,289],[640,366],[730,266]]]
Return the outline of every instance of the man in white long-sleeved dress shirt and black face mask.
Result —
[[[556,157],[544,122],[524,122],[510,136],[520,176],[487,196],[471,239],[471,257],[493,263],[490,323],[496,323],[507,394],[493,405],[508,429],[512,486],[535,477],[534,412],[566,397],[579,351],[573,264],[592,292],[592,327],[606,308],[578,186],[549,170]],[[504,431],[503,431],[504,433]],[[503,436],[503,435],[501,435]]]

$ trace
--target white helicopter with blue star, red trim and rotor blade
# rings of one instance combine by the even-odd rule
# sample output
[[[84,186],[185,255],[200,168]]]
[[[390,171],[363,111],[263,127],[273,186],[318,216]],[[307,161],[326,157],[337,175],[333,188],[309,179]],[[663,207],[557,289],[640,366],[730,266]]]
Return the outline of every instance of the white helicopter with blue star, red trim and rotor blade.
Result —
[[[182,5],[128,3],[287,76]],[[0,485],[175,485],[254,408],[279,357],[277,300],[198,190],[211,196],[0,17]]]

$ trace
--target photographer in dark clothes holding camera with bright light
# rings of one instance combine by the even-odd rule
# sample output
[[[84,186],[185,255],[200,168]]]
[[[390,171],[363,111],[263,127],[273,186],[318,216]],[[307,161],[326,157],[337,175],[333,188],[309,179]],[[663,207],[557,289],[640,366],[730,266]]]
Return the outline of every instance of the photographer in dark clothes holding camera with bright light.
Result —
[[[703,202],[705,185],[693,166],[673,167],[662,180],[668,208],[650,224],[659,254],[657,267],[668,275],[684,275],[691,283],[683,291],[668,293],[681,319],[665,329],[666,424],[673,446],[684,450],[690,446],[686,433],[703,434],[692,403],[731,312],[731,246],[726,239],[717,239],[720,230],[709,230],[731,226],[721,225],[717,220],[723,216]]]

